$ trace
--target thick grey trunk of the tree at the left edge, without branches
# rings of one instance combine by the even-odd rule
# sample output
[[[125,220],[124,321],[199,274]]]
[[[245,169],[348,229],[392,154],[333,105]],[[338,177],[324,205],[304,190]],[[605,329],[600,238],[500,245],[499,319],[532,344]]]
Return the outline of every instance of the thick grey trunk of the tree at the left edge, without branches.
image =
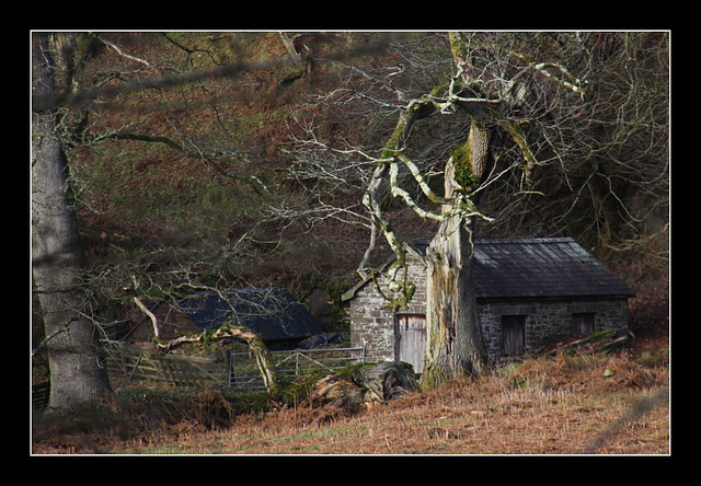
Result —
[[[34,39],[34,89],[51,93],[47,45]],[[97,361],[93,323],[79,312],[82,253],[74,210],[67,197],[67,163],[56,137],[56,114],[32,114],[32,261],[34,287],[44,315],[50,372],[50,409],[65,409],[107,389]]]

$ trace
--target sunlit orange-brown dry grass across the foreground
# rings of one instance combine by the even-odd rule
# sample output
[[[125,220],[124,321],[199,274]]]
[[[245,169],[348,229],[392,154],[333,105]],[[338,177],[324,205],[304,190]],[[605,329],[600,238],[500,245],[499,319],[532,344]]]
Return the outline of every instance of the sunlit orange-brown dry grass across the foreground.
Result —
[[[34,453],[668,454],[668,370],[630,351],[558,355],[355,415],[298,406],[214,429],[188,419],[128,438],[45,432]]]

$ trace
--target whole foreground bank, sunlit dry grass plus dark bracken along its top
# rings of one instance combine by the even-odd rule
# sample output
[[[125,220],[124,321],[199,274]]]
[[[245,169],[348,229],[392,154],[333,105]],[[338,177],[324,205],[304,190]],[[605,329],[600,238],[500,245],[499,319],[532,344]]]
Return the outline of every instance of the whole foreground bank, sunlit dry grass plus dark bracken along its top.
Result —
[[[35,454],[669,454],[666,293],[631,308],[614,354],[543,354],[478,381],[360,410],[226,390],[115,387],[62,416],[34,414]],[[553,345],[554,346],[554,345]],[[550,347],[553,349],[553,347]],[[564,349],[564,348],[563,348]]]

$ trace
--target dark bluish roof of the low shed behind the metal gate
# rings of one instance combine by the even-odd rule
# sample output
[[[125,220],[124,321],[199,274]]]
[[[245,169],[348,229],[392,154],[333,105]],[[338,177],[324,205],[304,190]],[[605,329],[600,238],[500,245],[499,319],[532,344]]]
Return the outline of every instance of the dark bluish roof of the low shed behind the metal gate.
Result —
[[[223,293],[223,292],[222,292]],[[262,339],[295,339],[321,334],[319,323],[286,291],[264,289],[199,292],[179,309],[200,329],[218,328],[230,319],[255,331]]]

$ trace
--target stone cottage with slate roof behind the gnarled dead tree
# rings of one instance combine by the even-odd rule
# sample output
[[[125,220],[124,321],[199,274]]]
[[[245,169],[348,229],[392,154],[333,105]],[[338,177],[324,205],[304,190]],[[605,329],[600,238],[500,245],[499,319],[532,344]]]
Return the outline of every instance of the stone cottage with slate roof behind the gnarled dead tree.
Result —
[[[369,279],[343,296],[352,345],[365,346],[368,361],[401,360],[421,373],[428,243],[406,245],[409,278],[416,291],[397,314]],[[628,299],[634,291],[571,238],[478,240],[475,261],[478,313],[492,359],[518,356],[558,338],[628,326]]]

